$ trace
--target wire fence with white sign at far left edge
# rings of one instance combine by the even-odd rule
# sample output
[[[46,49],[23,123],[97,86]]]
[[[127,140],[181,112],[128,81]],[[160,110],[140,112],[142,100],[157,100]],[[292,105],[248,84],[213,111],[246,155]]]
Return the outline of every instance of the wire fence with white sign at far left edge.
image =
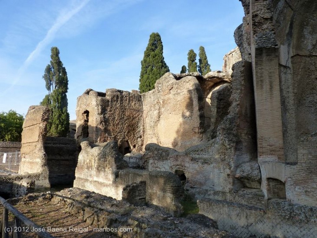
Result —
[[[20,151],[0,152],[0,172],[18,173],[21,161]]]

